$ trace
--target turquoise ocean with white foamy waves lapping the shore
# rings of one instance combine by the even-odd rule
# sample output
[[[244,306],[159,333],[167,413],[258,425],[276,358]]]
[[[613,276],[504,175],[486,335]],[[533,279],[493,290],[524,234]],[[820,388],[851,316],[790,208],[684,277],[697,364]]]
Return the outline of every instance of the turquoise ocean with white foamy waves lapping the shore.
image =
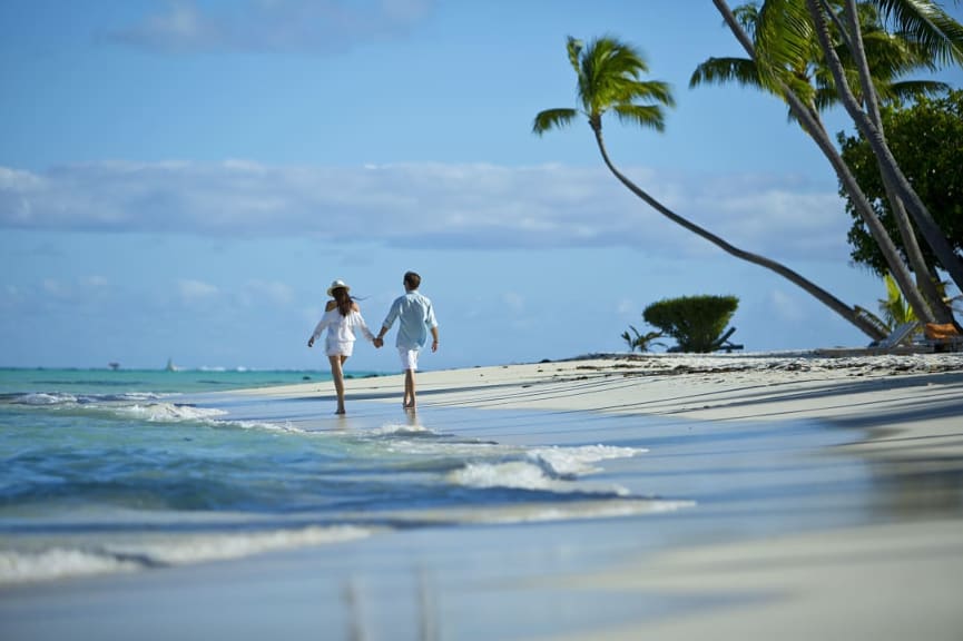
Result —
[[[318,385],[237,392],[293,383]],[[643,448],[495,443],[454,410],[425,424],[351,397],[337,420],[330,387],[323,372],[0,369],[0,585],[684,505],[592,479]]]

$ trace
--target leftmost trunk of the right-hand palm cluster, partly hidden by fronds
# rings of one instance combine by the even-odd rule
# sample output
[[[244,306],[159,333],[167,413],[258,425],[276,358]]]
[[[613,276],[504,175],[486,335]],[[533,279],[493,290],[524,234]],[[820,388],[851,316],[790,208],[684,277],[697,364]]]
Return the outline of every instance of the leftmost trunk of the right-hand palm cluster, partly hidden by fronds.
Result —
[[[736,17],[733,14],[728,4],[726,4],[725,0],[713,1],[723,14],[726,24],[728,24],[729,29],[736,36],[736,39],[749,57],[753,60],[756,60],[756,63],[758,65],[759,62],[756,56],[755,46],[736,21]],[[896,246],[893,244],[893,239],[890,238],[890,234],[886,231],[886,228],[883,227],[883,223],[880,221],[876,213],[873,211],[873,207],[869,205],[866,195],[863,194],[863,189],[856,181],[856,177],[853,176],[853,172],[849,171],[849,167],[843,160],[843,157],[839,156],[836,147],[833,146],[833,141],[826,132],[825,127],[823,127],[818,114],[815,110],[810,110],[787,85],[783,83],[780,89],[793,116],[796,117],[803,126],[803,129],[810,138],[813,138],[819,147],[819,150],[823,151],[823,155],[829,160],[829,164],[836,171],[836,176],[839,178],[839,183],[842,183],[843,188],[853,199],[853,203],[856,206],[856,211],[858,211],[859,217],[863,219],[863,223],[866,225],[873,239],[876,240],[876,244],[880,246],[880,252],[883,254],[886,264],[890,266],[890,273],[893,275],[893,279],[900,285],[900,289],[903,292],[910,306],[913,307],[916,317],[925,323],[933,322],[934,318],[930,312],[930,307],[926,305],[926,302],[923,299],[920,290],[913,283],[913,276],[903,263]]]

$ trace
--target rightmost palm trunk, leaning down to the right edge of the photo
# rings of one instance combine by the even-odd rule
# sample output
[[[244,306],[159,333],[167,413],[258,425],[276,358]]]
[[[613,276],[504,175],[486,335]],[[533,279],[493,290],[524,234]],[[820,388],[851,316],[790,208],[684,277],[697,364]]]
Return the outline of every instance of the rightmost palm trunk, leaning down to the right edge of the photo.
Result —
[[[816,37],[819,40],[819,47],[823,49],[823,55],[826,57],[826,62],[833,73],[833,80],[836,83],[836,91],[839,93],[839,98],[843,100],[846,111],[853,118],[856,127],[863,134],[863,137],[866,138],[871,149],[873,149],[873,154],[880,162],[880,169],[884,180],[892,181],[897,196],[903,200],[910,215],[913,216],[913,219],[916,221],[916,225],[920,226],[920,231],[923,235],[923,238],[926,240],[927,245],[930,245],[931,249],[933,249],[933,253],[940,259],[943,268],[950,274],[950,277],[956,284],[956,287],[963,289],[963,260],[961,260],[960,257],[956,256],[955,252],[953,252],[953,248],[949,240],[946,240],[943,231],[936,225],[936,221],[933,220],[926,206],[923,205],[920,196],[913,189],[913,186],[910,185],[906,176],[903,175],[903,171],[900,169],[892,151],[890,151],[890,147],[886,145],[886,140],[883,138],[881,130],[873,126],[873,122],[859,108],[859,103],[855,96],[853,96],[853,91],[849,89],[849,85],[846,81],[843,71],[843,63],[839,61],[838,56],[836,56],[835,49],[833,49],[829,30],[826,27],[826,19],[820,10],[819,0],[806,0],[806,6],[809,9],[809,14],[813,19]],[[861,67],[866,66],[865,58],[857,62]],[[861,70],[861,72],[863,71]],[[868,71],[865,72],[868,73]]]

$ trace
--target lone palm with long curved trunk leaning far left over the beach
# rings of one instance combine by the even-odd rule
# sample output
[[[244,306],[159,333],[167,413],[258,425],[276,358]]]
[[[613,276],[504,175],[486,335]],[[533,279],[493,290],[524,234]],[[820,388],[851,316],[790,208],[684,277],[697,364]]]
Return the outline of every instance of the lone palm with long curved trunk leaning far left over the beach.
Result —
[[[866,323],[853,307],[849,307],[815,283],[804,278],[785,265],[735,247],[719,236],[682,218],[641,189],[621,171],[609,158],[602,138],[602,116],[612,111],[622,121],[661,131],[665,129],[662,107],[671,107],[671,90],[666,82],[642,80],[648,73],[648,65],[635,48],[613,38],[605,37],[586,46],[581,40],[568,38],[569,62],[578,78],[580,108],[547,109],[534,118],[532,131],[539,136],[551,129],[571,125],[580,115],[588,118],[594,134],[596,144],[602,161],[612,175],[632,194],[656,209],[669,220],[713,243],[727,254],[755,265],[765,267],[796,284],[824,305],[839,314],[873,339],[882,338],[878,328]]]

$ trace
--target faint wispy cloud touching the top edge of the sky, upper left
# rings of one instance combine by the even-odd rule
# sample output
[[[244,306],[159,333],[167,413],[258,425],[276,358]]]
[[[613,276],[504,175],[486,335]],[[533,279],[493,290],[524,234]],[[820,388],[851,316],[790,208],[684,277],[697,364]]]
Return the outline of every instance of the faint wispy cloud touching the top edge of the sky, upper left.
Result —
[[[296,51],[343,53],[361,42],[407,33],[432,0],[167,0],[106,39],[164,52]]]

